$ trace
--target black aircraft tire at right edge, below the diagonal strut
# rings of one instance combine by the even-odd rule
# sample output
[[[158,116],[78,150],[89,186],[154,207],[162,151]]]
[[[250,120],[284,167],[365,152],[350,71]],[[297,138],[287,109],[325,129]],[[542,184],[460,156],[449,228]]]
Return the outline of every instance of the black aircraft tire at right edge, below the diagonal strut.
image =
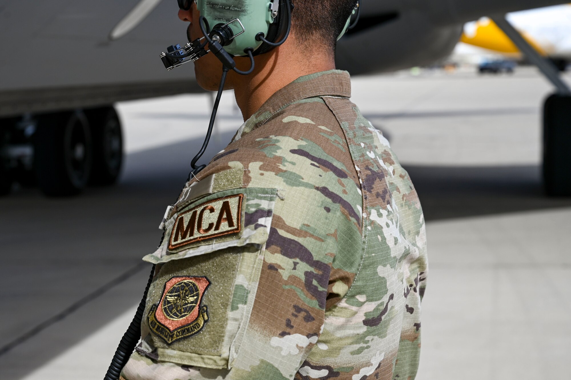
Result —
[[[544,103],[543,176],[550,196],[571,196],[571,95]]]

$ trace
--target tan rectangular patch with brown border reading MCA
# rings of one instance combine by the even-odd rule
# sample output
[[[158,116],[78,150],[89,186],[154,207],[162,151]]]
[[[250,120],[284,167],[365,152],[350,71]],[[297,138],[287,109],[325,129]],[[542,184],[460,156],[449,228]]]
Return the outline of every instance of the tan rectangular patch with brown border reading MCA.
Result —
[[[240,232],[243,194],[206,201],[176,217],[168,249]]]

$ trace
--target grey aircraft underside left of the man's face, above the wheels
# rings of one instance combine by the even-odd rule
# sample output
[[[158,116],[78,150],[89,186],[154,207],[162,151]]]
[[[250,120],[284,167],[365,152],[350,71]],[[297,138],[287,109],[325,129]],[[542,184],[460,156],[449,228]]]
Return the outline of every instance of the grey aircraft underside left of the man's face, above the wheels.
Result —
[[[162,1],[130,33],[114,27],[139,0],[0,6],[0,116],[202,91],[191,63],[167,72],[159,54],[186,42],[174,1]]]

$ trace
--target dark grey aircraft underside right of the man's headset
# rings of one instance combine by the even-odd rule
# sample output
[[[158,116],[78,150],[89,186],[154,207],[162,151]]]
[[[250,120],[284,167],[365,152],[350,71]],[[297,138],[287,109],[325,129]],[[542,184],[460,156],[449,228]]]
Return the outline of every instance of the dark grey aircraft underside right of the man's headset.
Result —
[[[452,52],[468,21],[562,3],[565,1],[363,0],[359,23],[339,41],[337,66],[351,74],[364,74],[428,65]]]

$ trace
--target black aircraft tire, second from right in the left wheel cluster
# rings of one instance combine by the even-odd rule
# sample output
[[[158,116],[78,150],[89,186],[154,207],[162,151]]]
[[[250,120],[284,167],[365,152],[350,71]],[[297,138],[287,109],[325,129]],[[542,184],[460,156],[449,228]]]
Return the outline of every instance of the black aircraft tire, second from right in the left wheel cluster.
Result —
[[[34,169],[47,196],[69,196],[82,191],[89,179],[93,144],[82,111],[38,117],[34,135]]]

